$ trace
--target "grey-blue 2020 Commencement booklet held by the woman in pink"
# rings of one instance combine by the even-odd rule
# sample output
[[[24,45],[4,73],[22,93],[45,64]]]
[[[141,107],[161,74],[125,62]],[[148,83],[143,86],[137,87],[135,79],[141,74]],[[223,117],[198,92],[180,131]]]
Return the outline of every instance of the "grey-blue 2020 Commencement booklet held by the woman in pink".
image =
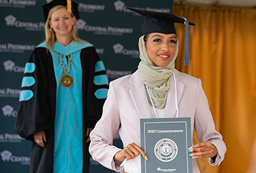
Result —
[[[192,173],[190,118],[140,119],[141,173]]]

